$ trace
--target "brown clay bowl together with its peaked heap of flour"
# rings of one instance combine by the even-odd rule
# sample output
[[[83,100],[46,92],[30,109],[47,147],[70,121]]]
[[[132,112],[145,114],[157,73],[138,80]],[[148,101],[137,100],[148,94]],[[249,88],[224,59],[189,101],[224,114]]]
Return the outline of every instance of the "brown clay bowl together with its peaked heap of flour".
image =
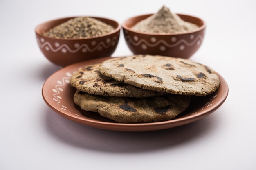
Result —
[[[128,48],[134,54],[191,57],[201,46],[205,22],[194,16],[171,13],[163,6],[155,14],[131,17],[122,24]]]

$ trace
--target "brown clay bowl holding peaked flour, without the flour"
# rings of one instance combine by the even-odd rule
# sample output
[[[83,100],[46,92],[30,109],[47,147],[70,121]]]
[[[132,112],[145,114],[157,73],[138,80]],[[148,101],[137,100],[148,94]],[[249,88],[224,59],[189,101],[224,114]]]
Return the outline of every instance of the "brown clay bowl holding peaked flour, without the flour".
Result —
[[[205,22],[200,18],[177,14],[182,20],[199,26],[196,30],[186,33],[145,33],[131,29],[137,22],[150,15],[153,14],[131,17],[122,25],[126,44],[134,54],[189,58],[200,48],[205,32]]]

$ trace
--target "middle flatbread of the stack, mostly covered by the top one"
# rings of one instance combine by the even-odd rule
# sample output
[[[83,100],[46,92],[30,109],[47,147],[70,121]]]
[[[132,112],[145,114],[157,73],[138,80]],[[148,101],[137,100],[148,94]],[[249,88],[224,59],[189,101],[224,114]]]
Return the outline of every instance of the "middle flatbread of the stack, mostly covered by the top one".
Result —
[[[70,79],[71,86],[89,94],[102,96],[139,98],[165,94],[164,92],[141,89],[103,76],[99,72],[99,65],[100,63],[88,65],[75,72]]]

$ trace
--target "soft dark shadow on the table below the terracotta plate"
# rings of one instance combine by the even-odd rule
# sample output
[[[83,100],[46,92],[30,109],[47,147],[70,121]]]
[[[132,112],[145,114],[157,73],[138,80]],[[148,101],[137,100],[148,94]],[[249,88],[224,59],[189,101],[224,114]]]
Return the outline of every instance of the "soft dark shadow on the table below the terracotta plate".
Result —
[[[50,135],[74,147],[113,153],[148,152],[198,140],[213,130],[212,119],[204,118],[184,126],[149,132],[119,132],[88,127],[45,106],[45,126]]]

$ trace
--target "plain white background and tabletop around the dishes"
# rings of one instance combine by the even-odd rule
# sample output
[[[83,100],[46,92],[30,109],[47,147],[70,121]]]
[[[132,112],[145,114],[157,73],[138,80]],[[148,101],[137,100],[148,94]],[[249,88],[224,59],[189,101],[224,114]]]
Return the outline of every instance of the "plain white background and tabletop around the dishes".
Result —
[[[207,22],[190,59],[227,81],[229,96],[217,111],[173,129],[127,133],[84,126],[47,107],[41,89],[60,67],[40,52],[38,24],[77,15],[122,23],[162,5]],[[1,0],[0,170],[255,170],[255,8],[255,0]],[[121,33],[113,56],[129,54]]]

